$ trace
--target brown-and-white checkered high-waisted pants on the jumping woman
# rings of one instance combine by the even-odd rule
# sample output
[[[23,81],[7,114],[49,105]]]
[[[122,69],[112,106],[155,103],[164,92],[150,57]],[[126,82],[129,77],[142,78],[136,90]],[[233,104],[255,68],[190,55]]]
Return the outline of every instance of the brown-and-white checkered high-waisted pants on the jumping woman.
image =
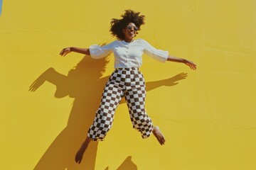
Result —
[[[142,138],[149,137],[153,130],[151,118],[146,115],[146,86],[144,77],[137,68],[115,69],[107,81],[100,107],[87,136],[92,140],[104,140],[112,128],[114,111],[121,99],[125,98],[133,128],[141,132]]]

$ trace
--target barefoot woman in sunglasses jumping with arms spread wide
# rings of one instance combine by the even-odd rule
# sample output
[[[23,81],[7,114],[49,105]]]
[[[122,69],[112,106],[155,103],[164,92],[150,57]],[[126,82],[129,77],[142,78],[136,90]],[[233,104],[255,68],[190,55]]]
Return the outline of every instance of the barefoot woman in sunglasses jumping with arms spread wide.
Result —
[[[135,36],[144,25],[145,16],[139,16],[131,10],[125,11],[121,19],[113,18],[110,32],[117,38],[108,45],[91,45],[90,48],[66,47],[61,52],[61,56],[69,52],[79,52],[90,55],[92,58],[100,59],[106,57],[111,52],[114,53],[114,72],[105,85],[102,94],[100,107],[98,108],[95,120],[87,132],[85,142],[75,156],[75,162],[79,163],[91,140],[104,140],[107,132],[112,128],[114,111],[122,97],[125,98],[129,108],[129,115],[133,128],[141,132],[143,138],[154,134],[160,145],[164,145],[164,135],[159,127],[153,126],[151,118],[146,114],[145,105],[145,81],[139,67],[142,65],[142,55],[153,57],[160,62],[182,62],[191,69],[196,69],[196,64],[178,57],[171,57],[169,52],[156,50],[143,39],[135,40]]]

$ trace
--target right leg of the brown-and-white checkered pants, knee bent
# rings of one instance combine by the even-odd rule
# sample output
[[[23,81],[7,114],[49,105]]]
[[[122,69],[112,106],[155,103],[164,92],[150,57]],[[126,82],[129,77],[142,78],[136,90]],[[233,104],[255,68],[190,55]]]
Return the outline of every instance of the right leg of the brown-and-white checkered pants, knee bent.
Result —
[[[146,86],[144,77],[138,70],[134,71],[130,87],[124,94],[133,128],[141,132],[142,138],[149,137],[153,130],[153,124],[149,115],[146,114],[145,98]]]

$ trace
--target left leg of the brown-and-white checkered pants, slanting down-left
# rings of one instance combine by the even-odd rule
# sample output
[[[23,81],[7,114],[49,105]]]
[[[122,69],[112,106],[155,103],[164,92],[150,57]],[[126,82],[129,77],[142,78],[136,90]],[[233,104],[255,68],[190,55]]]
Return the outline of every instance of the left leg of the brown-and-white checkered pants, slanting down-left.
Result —
[[[87,136],[94,141],[104,140],[107,132],[112,128],[114,112],[124,96],[122,83],[117,80],[118,76],[113,73],[107,81],[102,93],[100,107],[96,111],[95,120],[88,130]]]

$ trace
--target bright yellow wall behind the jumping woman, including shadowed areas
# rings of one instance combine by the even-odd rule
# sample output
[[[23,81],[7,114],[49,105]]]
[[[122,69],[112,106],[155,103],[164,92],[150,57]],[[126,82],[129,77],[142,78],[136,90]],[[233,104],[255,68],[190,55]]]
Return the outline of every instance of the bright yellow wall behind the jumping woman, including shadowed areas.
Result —
[[[113,60],[58,54],[111,42],[110,19],[127,8],[146,16],[137,38],[198,70],[144,56],[146,108],[166,145],[142,140],[122,103],[105,142],[92,143],[78,165]],[[3,1],[1,169],[255,169],[255,54],[254,0]]]

